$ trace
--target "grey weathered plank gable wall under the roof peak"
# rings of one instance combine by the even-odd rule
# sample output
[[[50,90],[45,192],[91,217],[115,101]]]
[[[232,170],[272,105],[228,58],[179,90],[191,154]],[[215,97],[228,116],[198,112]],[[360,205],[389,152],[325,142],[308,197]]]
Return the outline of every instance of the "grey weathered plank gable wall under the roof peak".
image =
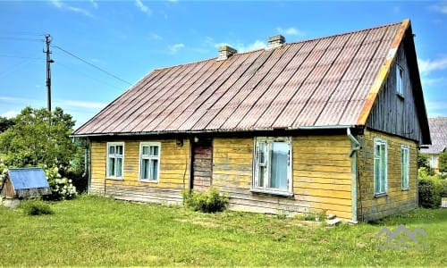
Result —
[[[403,96],[396,93],[396,64],[399,64],[403,70]],[[405,49],[404,46],[400,46],[384,88],[377,96],[375,105],[369,114],[367,127],[422,143],[422,131],[417,119],[413,87]]]

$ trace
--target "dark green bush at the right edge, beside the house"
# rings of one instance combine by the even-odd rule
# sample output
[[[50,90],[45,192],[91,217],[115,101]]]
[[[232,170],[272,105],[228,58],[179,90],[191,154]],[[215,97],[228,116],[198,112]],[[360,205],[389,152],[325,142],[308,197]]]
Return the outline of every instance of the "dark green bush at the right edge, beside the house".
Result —
[[[436,208],[441,205],[441,192],[443,185],[441,180],[426,178],[419,180],[419,205],[425,208]]]

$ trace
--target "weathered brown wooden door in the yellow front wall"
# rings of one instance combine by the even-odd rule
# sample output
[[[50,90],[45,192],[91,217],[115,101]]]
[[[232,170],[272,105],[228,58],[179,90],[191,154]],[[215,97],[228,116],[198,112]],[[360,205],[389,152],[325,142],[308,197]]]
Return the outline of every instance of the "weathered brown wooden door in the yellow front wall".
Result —
[[[199,138],[192,143],[192,172],[190,187],[195,190],[207,190],[212,183],[213,140]]]

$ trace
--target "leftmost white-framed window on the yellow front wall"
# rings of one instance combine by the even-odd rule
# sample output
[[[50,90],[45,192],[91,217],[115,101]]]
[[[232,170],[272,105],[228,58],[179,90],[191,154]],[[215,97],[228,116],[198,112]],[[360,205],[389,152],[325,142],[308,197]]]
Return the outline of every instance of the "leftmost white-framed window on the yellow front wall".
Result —
[[[124,143],[107,142],[106,178],[122,179],[123,166],[124,166]]]

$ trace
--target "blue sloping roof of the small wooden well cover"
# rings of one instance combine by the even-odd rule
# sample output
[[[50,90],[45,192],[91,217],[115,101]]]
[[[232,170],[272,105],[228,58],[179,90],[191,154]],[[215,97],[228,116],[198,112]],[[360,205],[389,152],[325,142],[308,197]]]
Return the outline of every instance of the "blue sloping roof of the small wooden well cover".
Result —
[[[8,173],[15,190],[50,187],[41,168],[10,169]]]

